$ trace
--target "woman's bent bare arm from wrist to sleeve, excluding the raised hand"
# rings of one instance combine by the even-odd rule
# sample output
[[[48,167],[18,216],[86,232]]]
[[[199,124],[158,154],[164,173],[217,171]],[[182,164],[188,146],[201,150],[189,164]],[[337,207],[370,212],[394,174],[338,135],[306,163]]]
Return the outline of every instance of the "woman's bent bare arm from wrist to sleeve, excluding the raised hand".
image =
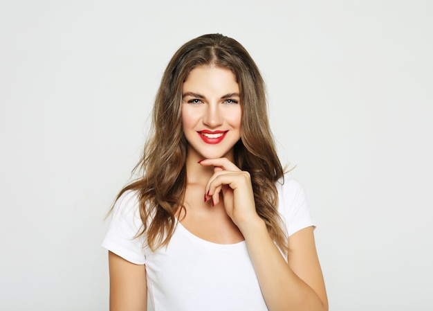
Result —
[[[269,310],[328,310],[312,226],[289,238],[288,263],[262,220],[244,227],[241,232]]]

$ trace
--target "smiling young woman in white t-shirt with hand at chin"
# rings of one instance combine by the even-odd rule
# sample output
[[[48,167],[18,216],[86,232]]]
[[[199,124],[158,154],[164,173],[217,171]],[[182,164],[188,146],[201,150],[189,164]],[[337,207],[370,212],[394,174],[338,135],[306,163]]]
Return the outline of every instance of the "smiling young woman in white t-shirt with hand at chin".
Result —
[[[328,310],[300,184],[277,157],[264,82],[236,40],[203,35],[169,62],[142,176],[103,246],[110,310]]]

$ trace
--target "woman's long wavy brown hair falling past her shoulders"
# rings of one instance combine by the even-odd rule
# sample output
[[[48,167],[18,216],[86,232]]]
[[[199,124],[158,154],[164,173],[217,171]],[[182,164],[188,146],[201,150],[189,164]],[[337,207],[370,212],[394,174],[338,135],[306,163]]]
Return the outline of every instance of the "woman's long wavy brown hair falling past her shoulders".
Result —
[[[182,130],[182,85],[196,66],[230,69],[240,89],[241,139],[234,145],[234,163],[250,172],[256,210],[283,251],[286,233],[277,211],[276,182],[284,178],[268,122],[264,80],[257,65],[236,40],[220,34],[202,35],[176,51],[156,94],[151,132],[133,172],[138,179],[123,188],[138,192],[142,231],[151,249],[166,246],[176,228],[186,188],[187,141]]]

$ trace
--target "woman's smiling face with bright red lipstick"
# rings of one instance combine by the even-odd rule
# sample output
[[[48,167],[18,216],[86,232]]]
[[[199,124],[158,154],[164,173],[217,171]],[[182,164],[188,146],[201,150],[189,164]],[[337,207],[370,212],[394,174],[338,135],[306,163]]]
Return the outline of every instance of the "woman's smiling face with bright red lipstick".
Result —
[[[241,138],[239,85],[229,69],[198,66],[182,86],[182,124],[188,157],[227,157]]]

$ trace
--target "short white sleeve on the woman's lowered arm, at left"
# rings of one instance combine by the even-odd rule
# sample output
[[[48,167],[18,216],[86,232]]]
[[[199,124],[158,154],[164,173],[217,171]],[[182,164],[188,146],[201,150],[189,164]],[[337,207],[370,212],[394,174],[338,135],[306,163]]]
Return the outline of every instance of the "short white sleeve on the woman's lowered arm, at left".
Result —
[[[126,191],[113,206],[111,222],[102,247],[137,265],[146,263],[143,238],[137,233],[142,229],[138,193]]]

